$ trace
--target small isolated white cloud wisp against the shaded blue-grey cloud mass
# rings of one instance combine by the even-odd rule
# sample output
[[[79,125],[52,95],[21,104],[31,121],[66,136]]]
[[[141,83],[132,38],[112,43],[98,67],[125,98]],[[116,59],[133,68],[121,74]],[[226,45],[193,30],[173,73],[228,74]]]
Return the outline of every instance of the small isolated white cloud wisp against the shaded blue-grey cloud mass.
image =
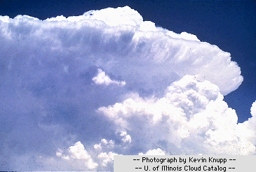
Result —
[[[102,71],[102,69],[98,69],[97,71],[98,71],[97,76],[93,78],[93,81],[97,85],[110,85],[110,84],[121,85],[121,86],[126,85],[126,81],[116,81],[116,80],[110,79],[109,76],[106,76],[105,71]]]

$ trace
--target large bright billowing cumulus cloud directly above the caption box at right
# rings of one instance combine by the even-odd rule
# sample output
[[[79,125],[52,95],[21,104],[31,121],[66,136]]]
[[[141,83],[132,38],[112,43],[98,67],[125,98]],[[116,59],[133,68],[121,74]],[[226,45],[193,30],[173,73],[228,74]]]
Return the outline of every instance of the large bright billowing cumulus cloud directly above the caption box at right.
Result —
[[[255,129],[237,124],[236,111],[228,108],[217,85],[195,76],[172,83],[161,99],[133,94],[99,111],[133,132],[132,138],[143,134],[141,144],[164,141],[170,154],[255,155]]]

